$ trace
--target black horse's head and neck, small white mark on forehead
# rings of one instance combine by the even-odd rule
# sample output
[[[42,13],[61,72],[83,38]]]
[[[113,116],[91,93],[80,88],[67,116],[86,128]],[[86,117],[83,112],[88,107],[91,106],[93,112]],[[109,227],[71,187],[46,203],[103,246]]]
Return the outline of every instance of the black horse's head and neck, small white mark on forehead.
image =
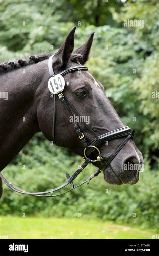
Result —
[[[88,60],[93,34],[73,52],[73,28],[59,51],[52,59],[55,74],[74,66],[84,65]],[[29,59],[0,64],[0,90],[7,97],[0,98],[0,171],[19,153],[36,132],[52,140],[53,98],[48,90],[50,54],[31,55]],[[104,93],[103,85],[88,71],[65,75],[64,93],[82,116],[89,116],[89,125],[97,135],[124,127],[123,122]],[[65,107],[56,101],[55,137],[58,146],[70,149],[83,156],[84,146],[74,132]],[[93,139],[89,130],[79,123],[85,138]],[[101,156],[107,160],[123,138],[99,146]],[[95,154],[95,153],[94,153]],[[142,154],[130,139],[110,165],[104,170],[104,179],[110,184],[135,184],[139,180],[139,169],[124,170],[124,163],[143,162]],[[94,165],[101,167],[102,161]],[[0,179],[0,194],[2,181]]]

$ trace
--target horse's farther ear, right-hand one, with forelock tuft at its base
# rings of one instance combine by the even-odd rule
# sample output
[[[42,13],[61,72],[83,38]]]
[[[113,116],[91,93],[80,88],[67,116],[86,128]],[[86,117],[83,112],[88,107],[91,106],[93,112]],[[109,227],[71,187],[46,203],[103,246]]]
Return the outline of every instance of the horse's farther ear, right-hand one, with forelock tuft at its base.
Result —
[[[93,36],[94,36],[94,32],[91,33],[90,37],[88,38],[88,40],[82,44],[77,50],[75,50],[73,52],[73,55],[75,54],[81,54],[82,58],[79,58],[79,62],[83,65],[89,58],[89,53],[90,53],[90,49],[91,49],[91,45],[93,42]]]

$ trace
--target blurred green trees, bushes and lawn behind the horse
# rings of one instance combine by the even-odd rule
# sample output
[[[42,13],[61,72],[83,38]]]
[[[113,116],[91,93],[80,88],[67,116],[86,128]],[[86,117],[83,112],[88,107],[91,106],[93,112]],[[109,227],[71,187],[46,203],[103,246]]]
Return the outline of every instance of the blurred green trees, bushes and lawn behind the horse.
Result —
[[[159,99],[152,97],[152,93],[159,90],[157,2],[0,0],[0,62],[41,52],[55,53],[74,26],[74,49],[95,31],[87,66],[105,86],[123,122],[136,129],[134,140],[144,156],[140,181],[133,186],[109,185],[101,174],[89,186],[84,185],[62,197],[36,198],[12,192],[3,184],[1,234],[9,234],[9,238],[152,239],[157,232]],[[144,27],[125,27],[124,20],[128,19],[143,20]],[[81,157],[50,146],[50,142],[37,133],[3,174],[20,188],[45,191],[62,184],[64,170],[72,174],[81,163]],[[88,166],[78,181],[82,182],[95,170]],[[25,219],[24,223],[22,217],[28,221]],[[80,231],[83,225],[86,230]],[[48,234],[44,230],[48,230]]]

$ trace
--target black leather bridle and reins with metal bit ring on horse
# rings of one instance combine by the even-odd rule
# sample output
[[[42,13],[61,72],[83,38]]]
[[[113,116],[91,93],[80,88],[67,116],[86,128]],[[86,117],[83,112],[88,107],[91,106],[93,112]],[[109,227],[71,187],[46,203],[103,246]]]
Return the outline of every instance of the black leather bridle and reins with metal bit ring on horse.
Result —
[[[49,73],[50,76],[55,76],[54,70],[52,68],[52,58],[54,55],[50,56],[49,61],[48,61],[48,67],[49,67]],[[75,66],[75,67],[70,67],[64,71],[62,71],[61,73],[59,73],[59,75],[61,76],[65,76],[66,74],[70,73],[70,72],[75,72],[75,71],[88,71],[87,67],[84,66]],[[72,112],[78,116],[78,117],[82,117],[78,111],[75,109],[75,107],[71,104],[71,102],[68,100],[68,98],[66,97],[66,95],[62,92],[59,92],[58,94],[54,94],[53,100],[54,100],[54,110],[53,110],[53,126],[52,126],[52,138],[53,138],[53,143],[56,145],[55,142],[55,120],[56,120],[56,95],[58,95],[58,98],[60,100],[61,103],[63,103],[63,105],[65,106],[65,108],[68,111],[69,116],[72,116]],[[21,194],[27,194],[27,195],[34,195],[34,196],[42,196],[42,197],[55,197],[55,196],[60,196],[63,195],[85,183],[89,184],[90,180],[93,179],[95,176],[97,176],[99,173],[101,173],[102,171],[104,171],[107,166],[110,164],[110,162],[114,159],[114,157],[119,153],[119,151],[124,147],[124,145],[127,143],[127,141],[130,138],[134,137],[134,132],[135,130],[133,129],[131,132],[131,129],[126,126],[111,132],[107,132],[104,133],[100,136],[97,136],[97,134],[92,130],[92,128],[86,124],[86,122],[84,122],[83,120],[83,124],[84,126],[89,130],[89,132],[94,136],[94,139],[90,142],[88,142],[85,138],[84,133],[82,133],[79,125],[77,122],[72,123],[73,128],[75,130],[75,132],[77,133],[79,139],[82,141],[83,146],[84,146],[84,157],[83,160],[84,162],[81,164],[81,166],[78,167],[78,169],[73,173],[73,175],[70,177],[70,175],[68,173],[66,173],[66,178],[67,181],[62,184],[61,186],[54,188],[54,189],[50,189],[48,191],[43,191],[43,192],[27,192],[25,190],[22,190],[16,186],[14,186],[11,182],[9,182],[0,172],[0,177],[2,178],[2,180],[5,182],[5,184],[11,188],[13,191],[21,193]],[[98,149],[98,146],[100,146],[104,141],[110,141],[110,140],[114,140],[117,138],[122,138],[122,137],[126,137],[123,142],[120,144],[120,146],[115,150],[115,152],[109,157],[109,159],[107,161],[105,161],[100,153],[100,150]],[[97,150],[99,155],[97,156],[96,160],[91,160],[91,158],[89,158],[89,156],[91,155],[92,151]],[[86,152],[87,151],[87,152]],[[76,179],[76,177],[84,170],[84,168],[90,163],[90,162],[96,162],[96,161],[103,161],[105,162],[102,169],[98,169],[94,174],[92,174],[87,180],[85,180],[84,182],[82,182],[81,184],[74,186],[73,181]],[[64,187],[66,187],[68,184],[71,185],[71,189],[58,194],[58,195],[46,195],[49,193],[53,193],[57,190],[60,190]]]

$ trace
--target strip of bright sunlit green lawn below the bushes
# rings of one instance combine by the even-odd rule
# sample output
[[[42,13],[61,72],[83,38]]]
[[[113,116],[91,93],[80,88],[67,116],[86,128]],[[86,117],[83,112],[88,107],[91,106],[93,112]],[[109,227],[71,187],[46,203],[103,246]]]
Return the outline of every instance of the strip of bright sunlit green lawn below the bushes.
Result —
[[[8,239],[152,239],[151,232],[83,218],[0,217]]]

